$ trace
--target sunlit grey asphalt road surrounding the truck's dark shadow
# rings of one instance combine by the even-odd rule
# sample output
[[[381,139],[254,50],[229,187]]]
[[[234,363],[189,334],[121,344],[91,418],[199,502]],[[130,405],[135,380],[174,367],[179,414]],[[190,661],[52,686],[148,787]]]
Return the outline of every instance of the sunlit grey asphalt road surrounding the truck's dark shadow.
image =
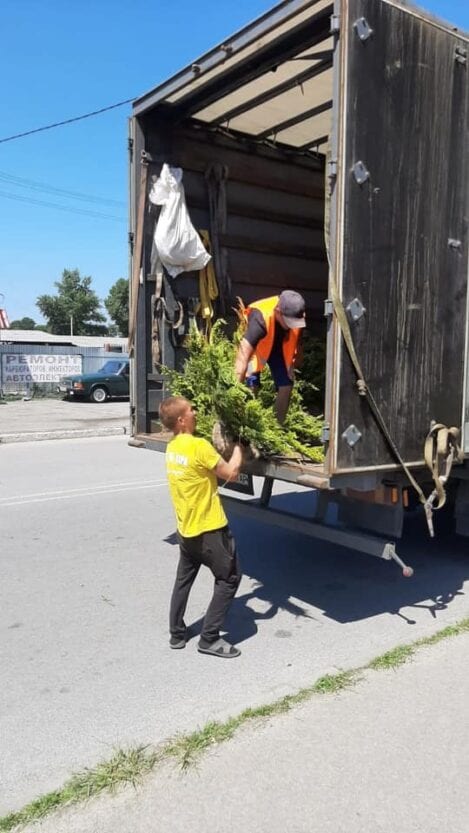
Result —
[[[303,490],[287,498],[311,505]],[[116,747],[269,702],[469,615],[467,541],[430,541],[413,521],[399,550],[416,572],[403,579],[392,563],[235,520],[245,578],[227,628],[242,656],[201,656],[194,640],[170,651],[163,458],[125,437],[1,446],[0,513],[0,813]],[[210,590],[201,574],[196,631]]]

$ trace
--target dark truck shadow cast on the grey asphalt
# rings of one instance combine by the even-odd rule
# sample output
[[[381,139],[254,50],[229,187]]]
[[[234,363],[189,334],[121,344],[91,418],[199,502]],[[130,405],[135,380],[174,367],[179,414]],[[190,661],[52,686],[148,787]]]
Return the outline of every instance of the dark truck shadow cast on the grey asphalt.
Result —
[[[292,511],[296,497],[303,508],[309,501],[311,514],[311,494],[304,492],[274,498],[272,505]],[[297,511],[300,514],[301,509]],[[257,521],[233,518],[230,526],[243,573],[254,585],[249,593],[234,599],[227,617],[229,637],[237,644],[257,633],[258,621],[273,619],[280,611],[314,619],[310,608],[315,607],[339,623],[390,613],[413,625],[409,608],[427,610],[437,619],[456,596],[465,595],[464,583],[469,579],[467,541],[447,530],[438,532],[438,519],[437,537],[431,539],[423,514],[406,519],[403,538],[397,542],[397,551],[414,568],[412,578],[404,578],[393,561]],[[165,540],[177,544],[175,534]],[[191,636],[200,633],[200,625],[201,620],[191,624]]]

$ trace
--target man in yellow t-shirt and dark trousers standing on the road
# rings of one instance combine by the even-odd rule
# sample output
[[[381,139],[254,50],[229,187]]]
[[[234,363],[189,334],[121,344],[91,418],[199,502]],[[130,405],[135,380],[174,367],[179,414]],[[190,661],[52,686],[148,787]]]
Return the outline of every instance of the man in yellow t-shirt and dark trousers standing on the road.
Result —
[[[174,438],[166,449],[166,470],[179,538],[179,564],[171,596],[171,648],[184,648],[184,613],[201,564],[215,577],[198,644],[202,654],[238,657],[241,651],[220,637],[226,612],[241,581],[236,545],[218,495],[217,477],[234,480],[242,453],[235,445],[226,462],[207,440],[194,437],[196,414],[190,402],[170,396],[160,406],[160,420]]]

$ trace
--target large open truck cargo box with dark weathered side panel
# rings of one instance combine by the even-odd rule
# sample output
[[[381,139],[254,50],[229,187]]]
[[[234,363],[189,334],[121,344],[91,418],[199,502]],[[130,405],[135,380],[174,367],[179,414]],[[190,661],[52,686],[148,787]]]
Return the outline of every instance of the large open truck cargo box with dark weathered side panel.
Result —
[[[410,4],[284,0],[134,103],[135,445],[164,447],[160,362],[181,366],[200,301],[197,274],[157,267],[147,197],[166,162],[209,232],[218,314],[295,289],[326,345],[324,464],[251,464],[261,505],[237,511],[288,525],[272,481],[310,486],[305,532],[399,561],[409,496],[432,531],[454,463],[469,535],[468,72],[467,34]]]

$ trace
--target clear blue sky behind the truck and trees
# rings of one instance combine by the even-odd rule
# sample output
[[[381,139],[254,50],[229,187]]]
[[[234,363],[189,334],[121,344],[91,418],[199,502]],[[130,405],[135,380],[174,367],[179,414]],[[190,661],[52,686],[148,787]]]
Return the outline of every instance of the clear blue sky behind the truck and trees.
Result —
[[[272,5],[3,0],[0,138],[141,95]],[[469,29],[468,0],[422,5]],[[10,319],[40,321],[35,300],[54,291],[64,268],[91,275],[100,298],[127,276],[129,115],[126,105],[0,144],[0,306]],[[33,182],[95,201],[27,187]],[[110,216],[69,213],[34,200]]]

